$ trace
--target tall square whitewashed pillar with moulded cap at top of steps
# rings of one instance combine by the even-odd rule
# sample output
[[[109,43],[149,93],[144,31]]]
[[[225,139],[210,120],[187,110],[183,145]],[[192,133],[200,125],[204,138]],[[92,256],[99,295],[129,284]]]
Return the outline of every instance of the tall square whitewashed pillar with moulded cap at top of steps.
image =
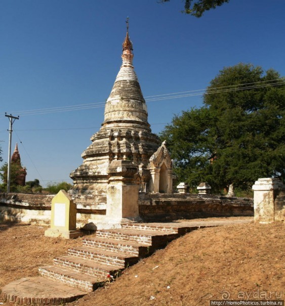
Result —
[[[108,174],[107,223],[117,227],[130,220],[138,220],[138,167],[129,160],[113,160]]]

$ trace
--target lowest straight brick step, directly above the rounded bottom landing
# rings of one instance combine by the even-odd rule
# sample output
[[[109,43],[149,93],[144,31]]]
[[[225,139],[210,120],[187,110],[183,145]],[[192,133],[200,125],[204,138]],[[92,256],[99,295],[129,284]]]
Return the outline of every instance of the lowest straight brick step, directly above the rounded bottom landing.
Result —
[[[57,266],[46,266],[38,268],[40,275],[60,281],[71,287],[78,288],[83,291],[93,291],[97,288],[97,283],[102,281],[94,276],[78,273],[67,268]]]

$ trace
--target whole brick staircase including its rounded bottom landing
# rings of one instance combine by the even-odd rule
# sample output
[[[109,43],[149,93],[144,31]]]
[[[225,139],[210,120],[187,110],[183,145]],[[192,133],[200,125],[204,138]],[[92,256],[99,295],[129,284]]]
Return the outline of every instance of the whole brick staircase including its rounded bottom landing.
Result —
[[[83,240],[82,247],[69,248],[67,255],[54,258],[54,265],[39,268],[39,277],[6,285],[2,295],[20,304],[72,301],[98,288],[108,275],[118,277],[141,258],[198,228],[131,223],[121,229],[98,230]]]

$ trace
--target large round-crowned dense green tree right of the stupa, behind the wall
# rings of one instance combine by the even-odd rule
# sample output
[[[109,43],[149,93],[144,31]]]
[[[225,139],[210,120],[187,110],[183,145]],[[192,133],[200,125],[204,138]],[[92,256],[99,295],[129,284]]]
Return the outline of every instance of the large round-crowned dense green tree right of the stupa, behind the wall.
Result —
[[[215,77],[200,109],[175,116],[160,134],[179,181],[250,190],[262,177],[285,180],[285,85],[273,69],[238,64]]]

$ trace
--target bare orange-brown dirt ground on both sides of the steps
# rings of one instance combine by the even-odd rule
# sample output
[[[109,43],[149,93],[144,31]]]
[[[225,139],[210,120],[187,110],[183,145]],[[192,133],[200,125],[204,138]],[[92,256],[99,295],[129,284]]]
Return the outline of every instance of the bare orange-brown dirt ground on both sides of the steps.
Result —
[[[44,237],[39,226],[0,225],[0,288],[52,263],[82,239]],[[214,299],[285,299],[285,225],[193,231],[68,306],[210,305]],[[10,306],[0,297],[0,304]]]

